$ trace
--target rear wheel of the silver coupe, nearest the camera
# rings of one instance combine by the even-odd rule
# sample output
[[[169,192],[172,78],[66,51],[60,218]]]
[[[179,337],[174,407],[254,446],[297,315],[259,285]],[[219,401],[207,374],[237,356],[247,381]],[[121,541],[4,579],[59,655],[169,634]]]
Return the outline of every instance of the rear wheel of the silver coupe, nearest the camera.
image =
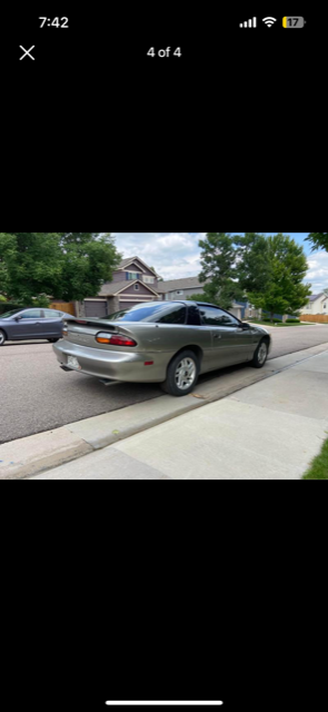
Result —
[[[187,396],[196,386],[198,376],[199,362],[197,356],[193,352],[181,352],[169,364],[167,379],[161,384],[161,388],[171,396]]]

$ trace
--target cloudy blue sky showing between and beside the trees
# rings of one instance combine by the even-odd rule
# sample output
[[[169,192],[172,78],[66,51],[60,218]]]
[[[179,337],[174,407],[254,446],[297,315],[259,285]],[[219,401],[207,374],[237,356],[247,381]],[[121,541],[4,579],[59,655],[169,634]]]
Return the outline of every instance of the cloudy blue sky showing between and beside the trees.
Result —
[[[200,271],[199,239],[206,233],[111,233],[123,257],[138,255],[155,267],[163,279],[193,277]],[[231,233],[236,235],[236,233]],[[276,235],[276,233],[265,233]],[[305,283],[311,284],[312,294],[328,287],[328,253],[311,253],[311,244],[306,243],[308,233],[284,233],[301,245],[308,259]]]

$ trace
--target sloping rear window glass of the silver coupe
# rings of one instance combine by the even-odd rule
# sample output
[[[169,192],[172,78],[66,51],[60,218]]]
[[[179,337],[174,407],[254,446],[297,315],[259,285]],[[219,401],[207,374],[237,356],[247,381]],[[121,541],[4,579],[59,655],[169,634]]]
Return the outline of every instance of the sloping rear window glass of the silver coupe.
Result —
[[[131,309],[117,312],[103,317],[107,322],[151,322],[153,324],[185,324],[186,307],[183,304],[152,303],[142,304]]]

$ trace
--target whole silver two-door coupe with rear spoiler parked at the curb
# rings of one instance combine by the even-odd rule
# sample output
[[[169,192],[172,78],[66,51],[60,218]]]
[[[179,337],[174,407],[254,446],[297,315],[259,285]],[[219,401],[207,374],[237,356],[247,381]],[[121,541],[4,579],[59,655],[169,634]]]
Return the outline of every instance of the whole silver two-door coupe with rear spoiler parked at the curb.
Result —
[[[63,320],[52,346],[63,370],[113,380],[160,383],[185,396],[199,374],[249,362],[261,368],[271,337],[212,304],[152,301],[96,319]]]

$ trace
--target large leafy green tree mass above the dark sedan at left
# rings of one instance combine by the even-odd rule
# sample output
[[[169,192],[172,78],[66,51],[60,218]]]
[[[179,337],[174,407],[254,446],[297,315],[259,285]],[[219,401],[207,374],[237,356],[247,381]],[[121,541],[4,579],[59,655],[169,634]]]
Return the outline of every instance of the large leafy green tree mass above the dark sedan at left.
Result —
[[[121,260],[110,234],[1,233],[0,294],[32,304],[96,296]]]

